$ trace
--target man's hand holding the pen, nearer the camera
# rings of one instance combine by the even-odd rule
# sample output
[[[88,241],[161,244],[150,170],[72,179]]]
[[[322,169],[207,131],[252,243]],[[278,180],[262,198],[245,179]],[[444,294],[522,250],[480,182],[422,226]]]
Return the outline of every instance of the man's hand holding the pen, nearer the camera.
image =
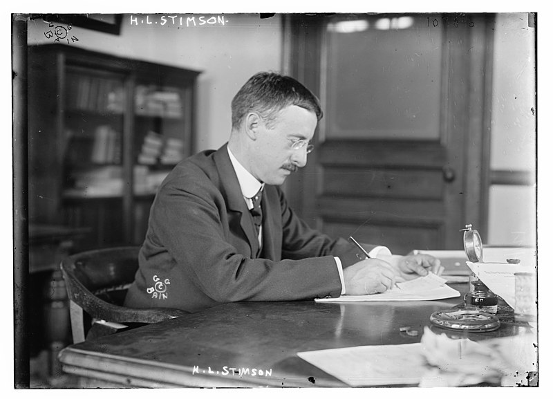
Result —
[[[345,295],[384,293],[395,284],[390,263],[381,259],[365,259],[344,268]]]

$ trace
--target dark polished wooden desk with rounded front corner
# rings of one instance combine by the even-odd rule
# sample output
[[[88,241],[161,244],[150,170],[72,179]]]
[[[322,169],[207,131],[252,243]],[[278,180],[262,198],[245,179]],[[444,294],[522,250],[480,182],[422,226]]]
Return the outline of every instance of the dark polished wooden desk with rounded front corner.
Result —
[[[70,346],[60,353],[60,361],[67,373],[96,380],[88,387],[110,386],[98,380],[132,387],[344,387],[296,353],[420,342],[431,313],[460,301],[224,304]],[[400,332],[403,326],[420,335]],[[465,336],[485,340],[525,329],[503,323],[497,331]]]

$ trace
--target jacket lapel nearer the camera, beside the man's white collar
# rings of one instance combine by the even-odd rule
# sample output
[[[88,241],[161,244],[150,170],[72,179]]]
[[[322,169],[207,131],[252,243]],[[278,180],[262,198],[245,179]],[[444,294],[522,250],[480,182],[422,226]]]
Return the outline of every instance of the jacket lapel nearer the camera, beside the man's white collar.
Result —
[[[259,248],[259,242],[257,241],[250,211],[247,209],[240,189],[240,183],[238,183],[236,172],[230,162],[226,144],[216,151],[214,161],[220,177],[221,192],[225,197],[225,201],[227,201],[227,209],[229,212],[239,212],[241,214],[240,226],[247,237],[248,243],[250,243],[250,250],[252,251],[250,256],[253,258]]]

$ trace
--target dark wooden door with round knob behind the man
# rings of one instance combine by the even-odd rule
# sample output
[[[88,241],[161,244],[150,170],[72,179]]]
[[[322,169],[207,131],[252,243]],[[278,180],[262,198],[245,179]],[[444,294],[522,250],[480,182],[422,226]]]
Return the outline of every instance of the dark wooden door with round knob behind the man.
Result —
[[[286,71],[325,117],[290,203],[332,236],[394,253],[485,233],[491,18],[290,16]]]

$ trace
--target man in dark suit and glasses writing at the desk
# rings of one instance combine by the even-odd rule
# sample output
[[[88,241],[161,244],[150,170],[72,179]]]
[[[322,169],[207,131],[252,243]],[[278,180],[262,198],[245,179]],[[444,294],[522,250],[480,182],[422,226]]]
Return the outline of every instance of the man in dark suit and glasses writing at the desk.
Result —
[[[279,188],[307,163],[319,100],[291,77],[257,73],[232,100],[229,142],[183,160],[158,190],[126,306],[195,312],[229,301],[382,293],[437,270],[312,230]],[[361,258],[363,259],[363,257]]]

